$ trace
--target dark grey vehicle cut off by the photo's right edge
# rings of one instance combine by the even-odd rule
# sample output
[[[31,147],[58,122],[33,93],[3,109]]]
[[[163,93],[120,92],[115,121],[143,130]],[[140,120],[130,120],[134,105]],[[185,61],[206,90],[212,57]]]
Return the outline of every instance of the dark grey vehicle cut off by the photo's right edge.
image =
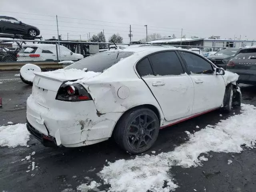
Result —
[[[239,83],[256,85],[256,47],[240,49],[228,62],[227,70],[239,75]]]

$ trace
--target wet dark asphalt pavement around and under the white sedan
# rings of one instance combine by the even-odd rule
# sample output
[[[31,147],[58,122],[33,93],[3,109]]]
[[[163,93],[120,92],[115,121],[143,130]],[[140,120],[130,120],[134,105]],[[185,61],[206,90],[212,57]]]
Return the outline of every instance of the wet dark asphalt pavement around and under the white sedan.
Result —
[[[8,121],[26,122],[26,99],[32,87],[21,82],[18,72],[0,72],[0,97],[3,107],[0,108],[0,125]],[[256,87],[242,85],[242,103],[256,106]],[[240,113],[239,108],[233,112]],[[210,112],[185,122],[160,130],[158,139],[151,151],[168,152],[186,142],[187,134],[206,125],[214,125],[230,114],[220,110]],[[220,117],[222,113],[222,117]],[[200,128],[195,129],[196,126]],[[80,148],[45,148],[33,137],[28,142],[30,147],[0,147],[0,192],[61,192],[66,188],[76,187],[92,179],[103,183],[97,173],[106,165],[106,160],[114,162],[119,159],[134,158],[112,141],[108,140],[92,146]],[[36,172],[26,172],[29,161],[23,158],[36,152],[31,161],[36,163]],[[180,186],[176,192],[254,192],[256,191],[256,150],[245,149],[237,153],[209,153],[212,157],[204,166],[181,168],[174,166],[170,172]],[[33,159],[34,158],[34,159]],[[233,161],[227,166],[227,160]],[[102,185],[100,190],[108,190]]]

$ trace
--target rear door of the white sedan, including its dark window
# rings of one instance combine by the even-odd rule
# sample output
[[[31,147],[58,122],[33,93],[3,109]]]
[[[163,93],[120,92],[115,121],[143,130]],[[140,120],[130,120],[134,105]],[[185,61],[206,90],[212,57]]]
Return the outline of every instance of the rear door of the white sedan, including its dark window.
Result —
[[[167,121],[192,114],[194,86],[175,51],[152,54],[137,70],[160,104]]]

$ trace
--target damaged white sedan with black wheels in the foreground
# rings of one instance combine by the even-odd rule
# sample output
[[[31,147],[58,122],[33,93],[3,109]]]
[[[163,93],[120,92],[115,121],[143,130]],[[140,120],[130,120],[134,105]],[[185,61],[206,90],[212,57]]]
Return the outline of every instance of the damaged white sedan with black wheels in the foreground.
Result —
[[[86,146],[113,136],[125,151],[141,153],[159,129],[241,103],[237,74],[178,48],[110,50],[35,74],[27,128],[45,146]]]

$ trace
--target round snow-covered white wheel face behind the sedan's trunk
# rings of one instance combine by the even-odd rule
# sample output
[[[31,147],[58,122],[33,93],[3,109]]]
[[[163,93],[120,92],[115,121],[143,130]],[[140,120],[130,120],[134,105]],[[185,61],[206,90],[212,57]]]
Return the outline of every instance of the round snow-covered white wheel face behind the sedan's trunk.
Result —
[[[34,64],[26,64],[20,68],[20,76],[29,82],[33,82],[35,74],[34,72],[41,72],[41,68]]]

